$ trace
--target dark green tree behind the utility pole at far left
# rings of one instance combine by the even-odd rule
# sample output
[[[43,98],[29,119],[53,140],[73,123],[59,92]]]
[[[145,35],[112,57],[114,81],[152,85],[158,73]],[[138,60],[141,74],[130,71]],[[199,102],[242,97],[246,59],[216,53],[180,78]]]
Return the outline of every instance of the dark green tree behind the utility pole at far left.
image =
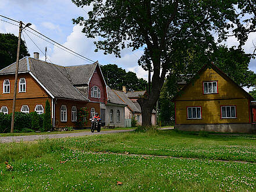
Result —
[[[0,69],[16,62],[18,37],[14,34],[0,33]],[[20,58],[30,56],[23,40],[20,41]]]

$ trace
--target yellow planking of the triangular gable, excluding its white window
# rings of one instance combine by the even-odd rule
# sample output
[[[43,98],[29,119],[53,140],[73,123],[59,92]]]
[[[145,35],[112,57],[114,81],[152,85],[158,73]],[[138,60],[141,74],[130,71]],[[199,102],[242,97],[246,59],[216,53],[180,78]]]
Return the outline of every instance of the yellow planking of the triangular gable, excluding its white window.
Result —
[[[220,74],[213,69],[207,69],[202,72],[197,80],[190,83],[181,95],[176,98],[179,100],[198,100],[198,99],[225,99],[225,98],[245,98],[247,97],[236,84],[230,80],[224,79]],[[218,93],[204,94],[203,82],[204,81],[218,81]]]

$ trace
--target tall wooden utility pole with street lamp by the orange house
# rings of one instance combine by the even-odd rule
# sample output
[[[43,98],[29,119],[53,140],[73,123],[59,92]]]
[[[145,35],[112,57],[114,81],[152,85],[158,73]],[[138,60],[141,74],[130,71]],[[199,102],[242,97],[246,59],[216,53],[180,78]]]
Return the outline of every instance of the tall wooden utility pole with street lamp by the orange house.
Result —
[[[20,55],[20,38],[22,36],[22,30],[25,27],[28,27],[31,25],[31,23],[27,23],[24,28],[22,28],[22,21],[20,21],[20,27],[19,27],[19,40],[18,40],[18,46],[17,46],[17,60],[16,60],[16,72],[15,72],[15,84],[14,84],[14,92],[13,92],[13,102],[12,102],[12,123],[10,124],[10,133],[13,133],[13,127],[14,127],[14,115],[15,115],[15,104],[16,104],[16,94],[17,94],[17,79],[18,79],[18,72],[19,72],[19,55]]]

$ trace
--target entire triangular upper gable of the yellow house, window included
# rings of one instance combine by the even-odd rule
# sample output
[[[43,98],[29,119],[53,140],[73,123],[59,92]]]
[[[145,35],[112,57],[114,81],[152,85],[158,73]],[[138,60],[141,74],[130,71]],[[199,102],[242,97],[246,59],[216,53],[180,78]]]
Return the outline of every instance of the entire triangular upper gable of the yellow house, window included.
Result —
[[[205,84],[204,84],[205,83]],[[205,93],[207,87],[211,87],[212,92]],[[213,87],[214,86],[214,90]],[[218,73],[213,67],[206,67],[199,74],[195,75],[194,80],[185,86],[175,101],[195,101],[209,99],[232,99],[248,98],[248,94],[241,90],[237,84],[229,79],[225,74]]]

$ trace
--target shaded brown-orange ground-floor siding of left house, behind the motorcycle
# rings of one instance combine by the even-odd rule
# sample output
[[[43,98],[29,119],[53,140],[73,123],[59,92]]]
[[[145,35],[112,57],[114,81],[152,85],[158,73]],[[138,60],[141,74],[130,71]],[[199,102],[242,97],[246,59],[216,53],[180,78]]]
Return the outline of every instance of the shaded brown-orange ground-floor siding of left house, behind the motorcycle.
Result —
[[[66,105],[67,107],[67,122],[61,122],[61,106]],[[85,101],[74,101],[67,99],[57,99],[55,102],[55,126],[65,127],[65,126],[76,126],[76,122],[72,122],[72,106],[76,106],[77,110],[86,106],[89,110],[89,115],[91,108],[95,108],[95,111],[99,113],[99,103],[97,102],[85,102]],[[90,123],[88,124],[90,126]]]

